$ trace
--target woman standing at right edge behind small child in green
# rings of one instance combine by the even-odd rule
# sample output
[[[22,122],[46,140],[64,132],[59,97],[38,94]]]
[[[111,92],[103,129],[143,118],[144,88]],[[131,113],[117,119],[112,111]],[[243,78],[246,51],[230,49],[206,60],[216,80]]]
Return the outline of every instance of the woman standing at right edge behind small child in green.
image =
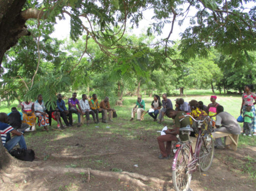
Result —
[[[240,109],[240,113],[244,114],[246,106],[250,105],[251,106],[251,112],[253,113],[253,119],[251,120],[252,123],[252,129],[251,131],[253,132],[253,135],[256,136],[256,117],[255,117],[255,107],[254,104],[256,102],[253,102],[256,100],[256,94],[250,91],[251,85],[245,85],[244,86],[244,93],[242,94],[242,105]]]

